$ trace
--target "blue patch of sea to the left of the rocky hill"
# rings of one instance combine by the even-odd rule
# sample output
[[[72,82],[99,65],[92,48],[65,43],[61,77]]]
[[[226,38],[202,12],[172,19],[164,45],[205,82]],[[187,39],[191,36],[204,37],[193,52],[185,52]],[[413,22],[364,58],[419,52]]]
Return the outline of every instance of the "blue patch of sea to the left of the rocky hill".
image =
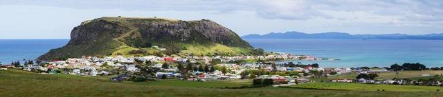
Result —
[[[66,45],[69,40],[4,40],[0,39],[0,62],[34,60],[51,49]]]

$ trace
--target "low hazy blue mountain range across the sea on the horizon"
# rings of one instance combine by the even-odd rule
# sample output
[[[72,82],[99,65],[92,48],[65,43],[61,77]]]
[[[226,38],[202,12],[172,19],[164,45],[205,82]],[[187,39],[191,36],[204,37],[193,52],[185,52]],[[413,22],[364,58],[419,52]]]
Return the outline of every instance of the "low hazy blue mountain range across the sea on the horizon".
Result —
[[[248,34],[242,39],[424,39],[443,40],[443,33],[440,34],[348,34],[344,32],[324,32],[307,34],[303,32],[284,32],[269,34]]]

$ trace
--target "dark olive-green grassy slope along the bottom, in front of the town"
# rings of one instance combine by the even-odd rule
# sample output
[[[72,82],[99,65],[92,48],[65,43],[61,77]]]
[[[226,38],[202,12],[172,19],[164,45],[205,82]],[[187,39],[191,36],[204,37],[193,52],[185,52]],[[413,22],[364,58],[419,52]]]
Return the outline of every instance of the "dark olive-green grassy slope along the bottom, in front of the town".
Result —
[[[159,80],[151,83],[111,82],[106,77],[44,75],[15,69],[0,71],[0,96],[443,96],[441,92],[339,91],[262,87],[219,89],[244,82],[189,82]]]

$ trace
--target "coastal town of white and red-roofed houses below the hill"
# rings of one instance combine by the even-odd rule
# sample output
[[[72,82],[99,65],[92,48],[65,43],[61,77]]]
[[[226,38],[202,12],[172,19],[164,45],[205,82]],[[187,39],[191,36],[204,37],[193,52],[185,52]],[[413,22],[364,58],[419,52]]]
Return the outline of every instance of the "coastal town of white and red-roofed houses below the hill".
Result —
[[[327,58],[330,59],[330,58]],[[83,56],[66,58],[63,61],[25,61],[23,65],[12,62],[1,65],[40,74],[71,74],[79,76],[114,76],[114,81],[154,81],[179,79],[188,81],[242,80],[253,79],[253,85],[284,87],[309,82],[368,83],[392,85],[443,85],[442,74],[435,74],[429,80],[410,78],[376,79],[383,72],[397,72],[400,69],[429,69],[419,63],[405,63],[391,67],[320,67],[320,65],[291,61],[325,60],[308,55],[273,53],[266,56]],[[287,63],[275,63],[283,61]],[[406,67],[408,66],[408,67]],[[6,67],[6,68],[4,68]],[[415,67],[415,69],[413,69]],[[440,70],[443,68],[431,68]],[[341,77],[343,75],[354,77]],[[440,75],[440,76],[439,76]],[[431,76],[422,74],[421,76]],[[318,80],[327,78],[326,80]]]

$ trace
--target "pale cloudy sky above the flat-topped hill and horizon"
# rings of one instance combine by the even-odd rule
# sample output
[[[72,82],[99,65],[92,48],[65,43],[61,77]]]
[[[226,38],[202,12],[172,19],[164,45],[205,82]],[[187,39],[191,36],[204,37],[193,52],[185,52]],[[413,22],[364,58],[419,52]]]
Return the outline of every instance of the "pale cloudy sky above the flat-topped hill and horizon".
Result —
[[[240,36],[443,32],[440,0],[1,0],[0,13],[0,39],[69,39],[82,21],[117,16],[211,19]]]

